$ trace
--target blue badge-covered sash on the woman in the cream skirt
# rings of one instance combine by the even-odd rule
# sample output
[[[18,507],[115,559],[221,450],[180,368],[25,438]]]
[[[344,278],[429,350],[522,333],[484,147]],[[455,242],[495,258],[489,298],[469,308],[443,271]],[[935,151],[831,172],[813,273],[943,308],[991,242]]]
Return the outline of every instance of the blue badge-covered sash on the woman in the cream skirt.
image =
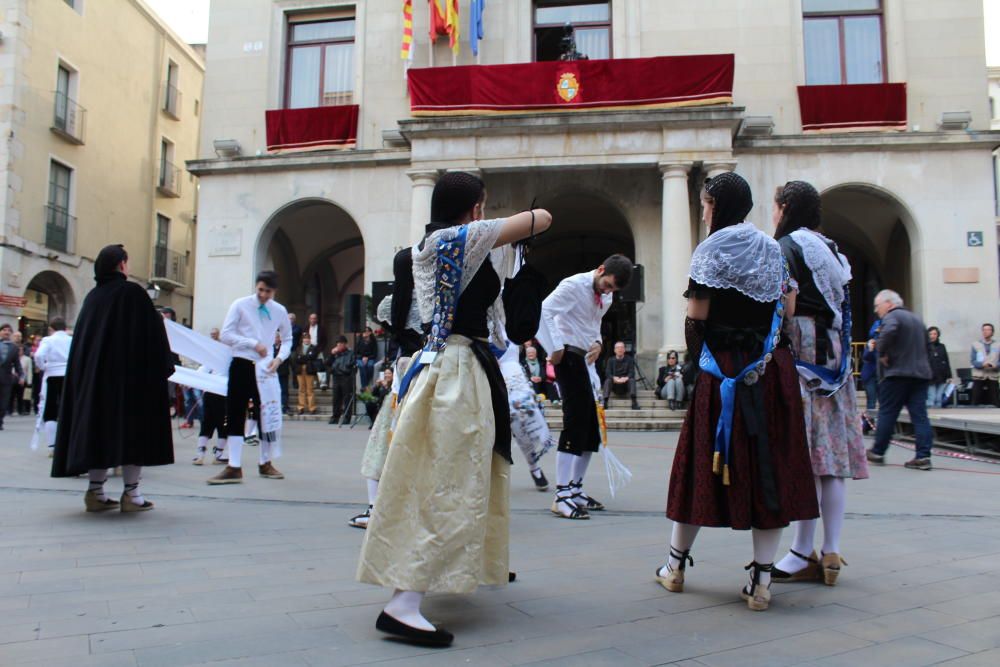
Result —
[[[399,383],[399,400],[403,400],[410,382],[429,361],[422,357],[430,353],[437,354],[444,349],[455,324],[455,311],[458,308],[458,296],[462,288],[462,263],[465,261],[465,240],[469,228],[462,225],[452,239],[441,239],[437,243],[437,267],[434,272],[434,319],[431,323],[431,333],[427,337],[424,349],[413,358],[406,375]],[[428,354],[425,354],[428,353]],[[433,356],[431,356],[433,359]]]

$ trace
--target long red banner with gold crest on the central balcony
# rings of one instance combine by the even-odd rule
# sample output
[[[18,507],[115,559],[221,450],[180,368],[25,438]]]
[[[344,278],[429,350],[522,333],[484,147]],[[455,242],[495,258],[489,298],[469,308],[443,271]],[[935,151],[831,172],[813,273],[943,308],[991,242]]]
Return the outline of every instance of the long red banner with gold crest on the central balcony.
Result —
[[[733,101],[732,54],[411,69],[414,116],[650,109]]]

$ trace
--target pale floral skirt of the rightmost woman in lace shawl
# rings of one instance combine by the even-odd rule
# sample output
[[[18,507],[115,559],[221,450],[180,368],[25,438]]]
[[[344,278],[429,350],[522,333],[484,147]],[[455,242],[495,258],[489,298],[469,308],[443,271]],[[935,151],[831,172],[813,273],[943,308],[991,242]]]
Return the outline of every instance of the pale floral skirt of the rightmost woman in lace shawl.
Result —
[[[807,363],[816,362],[816,322],[811,317],[795,317],[789,333],[795,356]],[[842,354],[840,339],[832,340],[837,367]],[[799,380],[806,437],[812,458],[813,474],[819,477],[868,478],[868,461],[861,437],[861,417],[853,380],[833,396],[819,396],[806,390]]]

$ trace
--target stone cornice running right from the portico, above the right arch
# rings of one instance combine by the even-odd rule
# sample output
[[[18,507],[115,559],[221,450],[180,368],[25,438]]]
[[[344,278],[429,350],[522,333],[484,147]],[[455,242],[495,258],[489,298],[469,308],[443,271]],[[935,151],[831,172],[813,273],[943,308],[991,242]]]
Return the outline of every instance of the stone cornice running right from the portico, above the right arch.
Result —
[[[967,132],[849,132],[737,137],[733,154],[816,153],[837,151],[993,150],[1000,131]]]

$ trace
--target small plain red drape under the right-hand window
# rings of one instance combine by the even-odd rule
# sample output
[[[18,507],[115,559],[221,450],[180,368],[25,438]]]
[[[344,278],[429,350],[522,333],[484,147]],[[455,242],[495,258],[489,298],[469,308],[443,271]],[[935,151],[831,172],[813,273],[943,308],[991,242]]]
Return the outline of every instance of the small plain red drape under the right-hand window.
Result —
[[[803,132],[906,129],[905,83],[799,86]]]

